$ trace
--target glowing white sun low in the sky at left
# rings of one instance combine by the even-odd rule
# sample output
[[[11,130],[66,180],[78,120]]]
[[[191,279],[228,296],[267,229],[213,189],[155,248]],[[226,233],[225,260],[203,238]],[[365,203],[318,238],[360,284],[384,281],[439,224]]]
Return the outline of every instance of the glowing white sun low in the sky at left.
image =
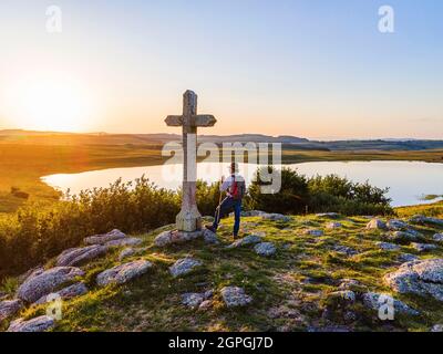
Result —
[[[85,85],[64,75],[31,75],[10,91],[10,111],[16,127],[37,131],[80,132],[94,116]]]

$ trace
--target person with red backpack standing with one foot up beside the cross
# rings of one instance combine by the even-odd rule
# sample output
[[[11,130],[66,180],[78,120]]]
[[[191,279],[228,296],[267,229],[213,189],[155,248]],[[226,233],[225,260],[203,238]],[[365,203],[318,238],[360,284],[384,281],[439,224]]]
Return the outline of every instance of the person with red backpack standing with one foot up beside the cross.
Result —
[[[206,228],[213,232],[217,231],[220,218],[234,210],[234,230],[233,238],[238,237],[238,230],[240,228],[240,212],[241,212],[241,199],[245,196],[246,184],[245,179],[238,174],[238,165],[236,163],[229,166],[230,176],[226,179],[222,177],[220,194],[226,191],[226,198],[215,210],[215,219],[212,226]],[[222,200],[222,195],[220,195]]]

